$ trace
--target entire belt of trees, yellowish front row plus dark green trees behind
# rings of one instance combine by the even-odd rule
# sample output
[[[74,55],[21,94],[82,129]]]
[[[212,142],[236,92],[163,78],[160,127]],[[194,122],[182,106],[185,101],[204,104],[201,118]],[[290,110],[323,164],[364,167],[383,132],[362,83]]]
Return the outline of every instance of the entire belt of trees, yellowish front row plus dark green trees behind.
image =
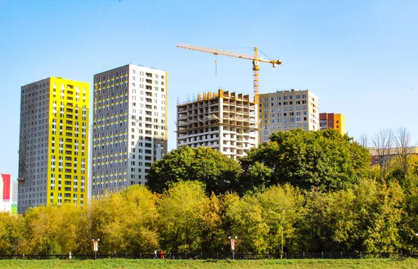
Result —
[[[418,250],[418,158],[390,158],[381,177],[367,149],[335,131],[274,133],[240,162],[180,148],[147,186],[90,205],[0,214],[0,254],[394,252]],[[406,169],[405,169],[406,168]]]

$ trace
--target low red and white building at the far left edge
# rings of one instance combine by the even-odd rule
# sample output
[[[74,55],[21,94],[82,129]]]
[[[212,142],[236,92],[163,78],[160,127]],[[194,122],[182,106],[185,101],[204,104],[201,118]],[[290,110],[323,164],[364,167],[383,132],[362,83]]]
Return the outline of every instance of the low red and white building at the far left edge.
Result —
[[[17,181],[10,174],[0,173],[0,211],[17,214]]]

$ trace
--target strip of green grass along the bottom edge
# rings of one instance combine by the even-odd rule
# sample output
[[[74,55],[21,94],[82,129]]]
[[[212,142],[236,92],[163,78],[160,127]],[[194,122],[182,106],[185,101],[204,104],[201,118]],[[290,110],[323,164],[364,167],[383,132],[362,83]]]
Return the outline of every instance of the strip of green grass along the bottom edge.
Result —
[[[257,268],[418,268],[416,259],[295,259],[295,260],[129,260],[100,259],[94,260],[2,260],[0,268],[201,268],[201,269],[257,269]]]

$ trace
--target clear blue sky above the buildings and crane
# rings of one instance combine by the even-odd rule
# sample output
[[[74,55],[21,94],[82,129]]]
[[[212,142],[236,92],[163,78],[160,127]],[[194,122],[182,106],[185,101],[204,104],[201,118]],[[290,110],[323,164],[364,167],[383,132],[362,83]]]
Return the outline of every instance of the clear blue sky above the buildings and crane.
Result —
[[[93,82],[128,63],[169,72],[169,149],[177,99],[252,93],[249,60],[178,49],[184,42],[252,54],[261,92],[308,88],[348,134],[407,127],[418,140],[418,1],[0,1],[0,171],[17,177],[20,86],[47,76]]]

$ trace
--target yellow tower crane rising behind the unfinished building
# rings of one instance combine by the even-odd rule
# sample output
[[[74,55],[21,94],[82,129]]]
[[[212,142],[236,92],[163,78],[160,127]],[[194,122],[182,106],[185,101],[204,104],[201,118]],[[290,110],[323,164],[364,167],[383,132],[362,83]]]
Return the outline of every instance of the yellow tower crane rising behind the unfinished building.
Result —
[[[178,44],[177,47],[181,49],[191,49],[192,51],[208,52],[209,54],[224,55],[224,56],[230,56],[230,57],[235,57],[235,58],[252,60],[253,61],[253,76],[254,76],[254,101],[256,101],[257,103],[258,103],[258,94],[259,94],[258,80],[260,76],[260,67],[258,67],[258,64],[260,62],[271,63],[273,67],[276,67],[277,65],[281,65],[281,60],[265,60],[263,58],[258,57],[257,47],[254,47],[254,56],[249,55],[249,54],[239,54],[233,51],[224,51],[222,49],[211,49],[207,47],[199,47],[199,46],[194,46],[191,44]]]

